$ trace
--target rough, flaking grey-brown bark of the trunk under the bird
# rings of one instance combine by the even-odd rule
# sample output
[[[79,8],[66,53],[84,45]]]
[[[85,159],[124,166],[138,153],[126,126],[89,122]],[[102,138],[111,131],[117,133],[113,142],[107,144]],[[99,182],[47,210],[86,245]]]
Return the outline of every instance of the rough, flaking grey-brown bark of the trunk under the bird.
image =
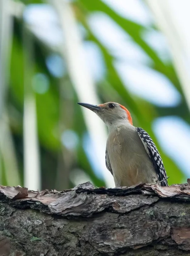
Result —
[[[190,186],[0,186],[0,256],[190,256]]]

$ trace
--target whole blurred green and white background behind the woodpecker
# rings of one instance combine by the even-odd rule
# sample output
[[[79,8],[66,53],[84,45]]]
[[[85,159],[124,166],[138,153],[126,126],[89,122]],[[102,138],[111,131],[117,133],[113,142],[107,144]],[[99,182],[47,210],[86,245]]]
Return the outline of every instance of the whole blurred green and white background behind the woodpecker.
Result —
[[[113,187],[107,128],[77,102],[114,101],[190,177],[188,0],[0,0],[0,184]]]

